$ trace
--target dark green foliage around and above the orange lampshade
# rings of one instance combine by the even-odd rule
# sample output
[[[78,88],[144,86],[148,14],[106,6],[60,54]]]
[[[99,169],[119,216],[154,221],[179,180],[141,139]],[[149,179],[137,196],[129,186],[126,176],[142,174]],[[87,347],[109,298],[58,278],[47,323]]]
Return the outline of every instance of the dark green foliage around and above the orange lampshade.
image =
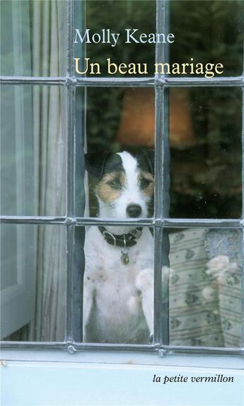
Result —
[[[170,1],[170,62],[222,63],[224,76],[243,72],[243,1]],[[123,33],[139,28],[156,32],[156,1],[88,1],[86,26]],[[105,66],[112,61],[146,62],[153,67],[155,46],[120,42],[89,45],[88,57]],[[106,69],[103,68],[105,76]],[[152,70],[149,72],[152,76]],[[88,90],[88,148],[118,150],[123,90]],[[238,218],[241,210],[242,94],[234,87],[192,88],[190,112],[196,145],[171,149],[170,215]]]

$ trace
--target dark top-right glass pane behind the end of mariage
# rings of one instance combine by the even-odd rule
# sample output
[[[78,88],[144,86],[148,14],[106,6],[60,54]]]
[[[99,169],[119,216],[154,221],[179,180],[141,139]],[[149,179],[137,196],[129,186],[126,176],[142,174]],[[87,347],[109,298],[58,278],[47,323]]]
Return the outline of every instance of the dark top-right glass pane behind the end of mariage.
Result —
[[[221,63],[222,76],[243,74],[243,6],[242,0],[170,1],[170,32],[175,35],[170,63]]]

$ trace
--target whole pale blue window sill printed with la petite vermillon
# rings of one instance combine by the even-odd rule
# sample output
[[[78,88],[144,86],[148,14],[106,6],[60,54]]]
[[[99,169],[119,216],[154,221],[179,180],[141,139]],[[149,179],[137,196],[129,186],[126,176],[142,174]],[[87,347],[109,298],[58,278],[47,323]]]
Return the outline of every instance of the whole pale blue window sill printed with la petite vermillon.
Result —
[[[161,359],[156,354],[105,351],[71,355],[58,350],[4,350],[1,359],[6,360],[1,366],[5,406],[243,405],[243,359],[238,356]],[[218,375],[233,377],[233,382],[192,382]],[[153,376],[160,376],[161,382],[153,382]],[[187,382],[163,385],[165,376],[187,377]]]

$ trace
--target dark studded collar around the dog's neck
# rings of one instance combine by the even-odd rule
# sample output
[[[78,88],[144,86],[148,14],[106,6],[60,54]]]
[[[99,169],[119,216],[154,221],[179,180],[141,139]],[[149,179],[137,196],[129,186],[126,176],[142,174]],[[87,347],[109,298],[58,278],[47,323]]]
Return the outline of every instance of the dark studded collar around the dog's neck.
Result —
[[[139,239],[142,234],[142,227],[136,227],[127,234],[112,234],[112,232],[108,232],[103,226],[98,227],[98,230],[108,244],[123,248],[133,247],[133,245],[136,245],[136,239]]]

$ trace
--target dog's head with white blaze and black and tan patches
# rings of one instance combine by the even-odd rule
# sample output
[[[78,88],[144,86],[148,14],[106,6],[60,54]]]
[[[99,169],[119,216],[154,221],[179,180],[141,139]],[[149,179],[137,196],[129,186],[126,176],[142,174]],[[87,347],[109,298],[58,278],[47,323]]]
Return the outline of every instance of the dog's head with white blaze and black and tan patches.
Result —
[[[87,154],[86,169],[96,182],[100,215],[138,218],[153,213],[153,152]]]

